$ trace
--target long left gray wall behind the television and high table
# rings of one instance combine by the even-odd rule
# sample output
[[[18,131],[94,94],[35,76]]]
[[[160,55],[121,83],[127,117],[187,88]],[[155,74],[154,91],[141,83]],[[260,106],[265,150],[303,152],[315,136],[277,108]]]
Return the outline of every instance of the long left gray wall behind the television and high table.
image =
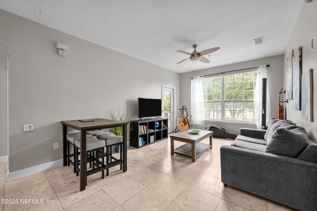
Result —
[[[10,45],[9,172],[62,159],[62,120],[109,118],[109,109],[123,108],[136,118],[137,98],[161,98],[162,84],[176,87],[178,107],[175,72],[3,10],[0,29]],[[56,42],[68,45],[66,57]]]

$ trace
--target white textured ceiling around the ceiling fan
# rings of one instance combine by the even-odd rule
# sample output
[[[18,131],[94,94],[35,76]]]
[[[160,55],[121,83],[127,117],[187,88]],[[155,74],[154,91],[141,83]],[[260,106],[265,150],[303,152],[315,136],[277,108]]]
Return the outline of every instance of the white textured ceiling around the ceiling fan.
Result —
[[[0,8],[177,73],[283,54],[303,0],[0,0]],[[264,37],[255,45],[253,39]],[[65,43],[67,44],[67,43]],[[185,61],[217,47],[211,63]],[[70,46],[68,46],[70,48]],[[71,49],[68,49],[71,50]],[[210,56],[210,57],[209,57]]]

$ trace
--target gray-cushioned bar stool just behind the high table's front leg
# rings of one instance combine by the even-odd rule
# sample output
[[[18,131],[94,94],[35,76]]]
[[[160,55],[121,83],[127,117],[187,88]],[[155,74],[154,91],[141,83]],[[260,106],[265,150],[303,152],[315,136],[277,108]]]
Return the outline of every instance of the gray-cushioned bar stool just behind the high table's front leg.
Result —
[[[94,173],[94,170],[97,168],[105,167],[105,159],[104,159],[104,148],[105,148],[105,140],[99,140],[96,138],[96,136],[87,137],[86,139],[86,152],[87,152],[87,163],[82,164],[80,163],[80,160],[78,159],[79,150],[80,150],[80,138],[75,139],[75,157],[76,159],[76,175],[79,175],[79,165],[87,165],[87,163],[90,163],[91,170],[87,170],[86,175],[90,175]],[[102,159],[100,161],[99,159]],[[105,177],[105,170],[102,170],[102,178]],[[86,177],[86,183],[87,183],[87,177]]]

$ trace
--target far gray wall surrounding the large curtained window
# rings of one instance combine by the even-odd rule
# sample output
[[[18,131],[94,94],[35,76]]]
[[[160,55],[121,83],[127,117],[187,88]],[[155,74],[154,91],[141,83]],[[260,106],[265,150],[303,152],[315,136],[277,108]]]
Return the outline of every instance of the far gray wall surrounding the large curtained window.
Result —
[[[261,47],[261,46],[259,46]],[[198,70],[188,73],[183,73],[180,75],[180,105],[186,105],[186,108],[190,112],[191,108],[191,77],[208,75],[214,73],[222,73],[232,70],[240,70],[245,68],[257,67],[262,64],[269,64],[267,67],[267,85],[270,96],[270,107],[271,116],[277,117],[277,105],[278,105],[278,92],[283,87],[283,55],[270,56],[262,59],[256,59],[246,62],[240,62],[230,65],[224,65],[204,70]],[[257,69],[252,69],[251,71],[256,71]],[[248,70],[250,71],[250,70]],[[239,73],[233,72],[233,73]],[[189,114],[190,115],[190,114]],[[241,124],[234,122],[219,122],[219,121],[205,121],[204,125],[194,126],[196,128],[209,129],[210,126],[217,126],[227,129],[229,132],[239,134],[241,127],[256,128],[255,124]]]

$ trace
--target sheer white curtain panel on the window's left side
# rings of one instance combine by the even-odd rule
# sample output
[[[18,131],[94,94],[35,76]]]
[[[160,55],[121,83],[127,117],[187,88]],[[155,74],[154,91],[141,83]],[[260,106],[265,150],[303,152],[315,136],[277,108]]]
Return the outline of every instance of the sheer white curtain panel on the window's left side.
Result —
[[[203,125],[205,119],[205,104],[203,93],[203,77],[195,76],[192,79],[192,125]]]

